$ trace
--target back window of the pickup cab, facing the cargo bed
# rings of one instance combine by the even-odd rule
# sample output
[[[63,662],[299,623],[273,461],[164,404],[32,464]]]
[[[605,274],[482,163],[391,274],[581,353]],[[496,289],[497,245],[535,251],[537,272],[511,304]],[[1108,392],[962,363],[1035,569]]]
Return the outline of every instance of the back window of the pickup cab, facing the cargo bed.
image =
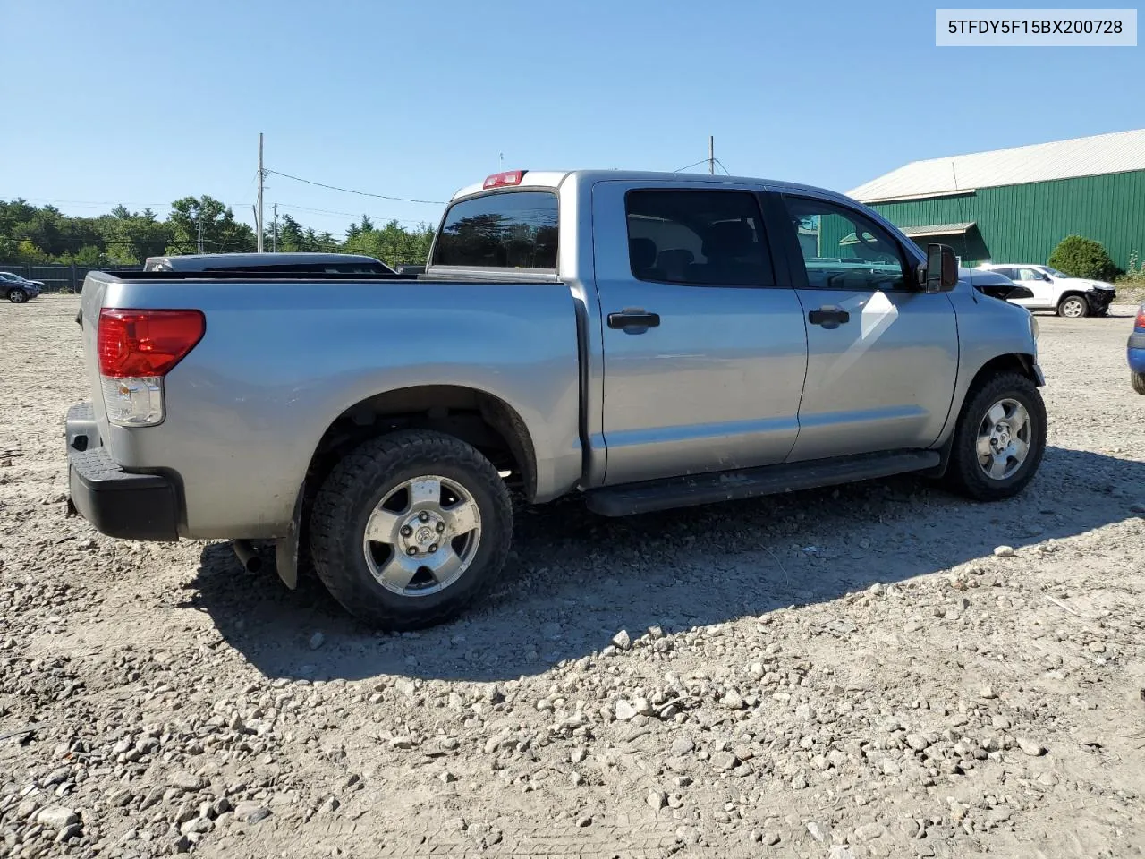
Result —
[[[556,195],[505,191],[455,203],[434,245],[435,266],[556,268]]]

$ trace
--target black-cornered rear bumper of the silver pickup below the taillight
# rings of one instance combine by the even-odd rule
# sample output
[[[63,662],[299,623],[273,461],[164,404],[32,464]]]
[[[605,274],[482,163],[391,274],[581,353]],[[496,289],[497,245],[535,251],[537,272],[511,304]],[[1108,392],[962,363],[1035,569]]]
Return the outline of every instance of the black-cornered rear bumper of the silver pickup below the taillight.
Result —
[[[109,537],[179,539],[179,494],[160,474],[125,472],[100,439],[90,403],[68,410],[68,499]]]

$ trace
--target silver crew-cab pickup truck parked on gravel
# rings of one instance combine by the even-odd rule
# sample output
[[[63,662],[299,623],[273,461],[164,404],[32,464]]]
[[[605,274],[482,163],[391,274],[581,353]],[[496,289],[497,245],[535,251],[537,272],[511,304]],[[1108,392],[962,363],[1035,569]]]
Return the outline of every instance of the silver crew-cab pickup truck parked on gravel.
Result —
[[[512,171],[449,204],[424,274],[92,274],[73,507],[131,539],[275,541],[411,629],[498,575],[527,503],[603,515],[905,472],[1020,491],[1037,328],[838,194]]]

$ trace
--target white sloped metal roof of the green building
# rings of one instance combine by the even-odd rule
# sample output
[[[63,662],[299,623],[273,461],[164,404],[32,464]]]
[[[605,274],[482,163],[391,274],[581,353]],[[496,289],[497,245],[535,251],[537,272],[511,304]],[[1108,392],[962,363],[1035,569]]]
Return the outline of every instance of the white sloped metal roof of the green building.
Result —
[[[1145,170],[1145,128],[911,161],[852,188],[862,203]]]

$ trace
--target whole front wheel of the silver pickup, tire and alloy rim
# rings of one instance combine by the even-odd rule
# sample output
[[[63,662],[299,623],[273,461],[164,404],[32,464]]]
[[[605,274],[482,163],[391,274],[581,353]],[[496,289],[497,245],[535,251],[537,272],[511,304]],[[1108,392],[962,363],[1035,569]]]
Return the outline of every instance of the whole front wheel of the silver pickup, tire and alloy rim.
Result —
[[[1045,403],[1029,379],[1001,373],[972,389],[947,467],[951,489],[976,501],[1010,498],[1034,479],[1045,452]]]

